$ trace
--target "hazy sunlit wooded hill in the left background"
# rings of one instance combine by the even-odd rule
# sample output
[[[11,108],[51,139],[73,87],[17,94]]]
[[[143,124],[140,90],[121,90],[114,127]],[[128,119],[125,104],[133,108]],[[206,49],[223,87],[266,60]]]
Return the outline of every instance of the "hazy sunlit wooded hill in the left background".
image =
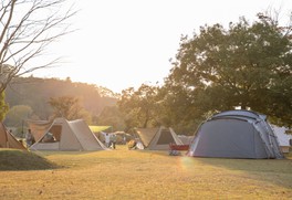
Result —
[[[27,105],[33,109],[33,114],[40,119],[48,119],[52,115],[49,105],[50,97],[74,96],[79,97],[82,106],[92,116],[101,114],[104,107],[116,104],[117,98],[102,96],[101,90],[93,84],[74,83],[70,78],[62,81],[58,78],[19,77],[6,90],[6,102],[10,108],[15,105]],[[111,92],[109,90],[107,92]]]

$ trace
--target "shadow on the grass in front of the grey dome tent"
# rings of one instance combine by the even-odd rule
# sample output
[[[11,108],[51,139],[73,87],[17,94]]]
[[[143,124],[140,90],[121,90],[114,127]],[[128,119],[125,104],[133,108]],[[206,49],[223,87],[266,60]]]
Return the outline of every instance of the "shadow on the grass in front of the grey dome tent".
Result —
[[[292,155],[286,155],[285,159],[192,158],[204,165],[242,171],[252,179],[292,188]]]

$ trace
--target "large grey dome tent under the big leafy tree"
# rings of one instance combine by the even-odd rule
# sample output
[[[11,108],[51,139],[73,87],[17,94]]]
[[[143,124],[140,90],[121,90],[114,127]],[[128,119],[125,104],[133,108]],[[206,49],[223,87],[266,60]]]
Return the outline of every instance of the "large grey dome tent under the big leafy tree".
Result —
[[[227,110],[200,125],[188,156],[221,158],[283,158],[278,139],[264,115]]]

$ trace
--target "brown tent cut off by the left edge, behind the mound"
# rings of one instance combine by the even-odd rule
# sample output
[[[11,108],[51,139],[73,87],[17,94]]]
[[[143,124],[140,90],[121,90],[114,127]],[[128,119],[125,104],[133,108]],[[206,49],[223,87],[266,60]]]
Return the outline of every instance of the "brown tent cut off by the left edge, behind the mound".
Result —
[[[27,148],[7,130],[2,123],[0,123],[0,148],[15,148],[27,150]]]

